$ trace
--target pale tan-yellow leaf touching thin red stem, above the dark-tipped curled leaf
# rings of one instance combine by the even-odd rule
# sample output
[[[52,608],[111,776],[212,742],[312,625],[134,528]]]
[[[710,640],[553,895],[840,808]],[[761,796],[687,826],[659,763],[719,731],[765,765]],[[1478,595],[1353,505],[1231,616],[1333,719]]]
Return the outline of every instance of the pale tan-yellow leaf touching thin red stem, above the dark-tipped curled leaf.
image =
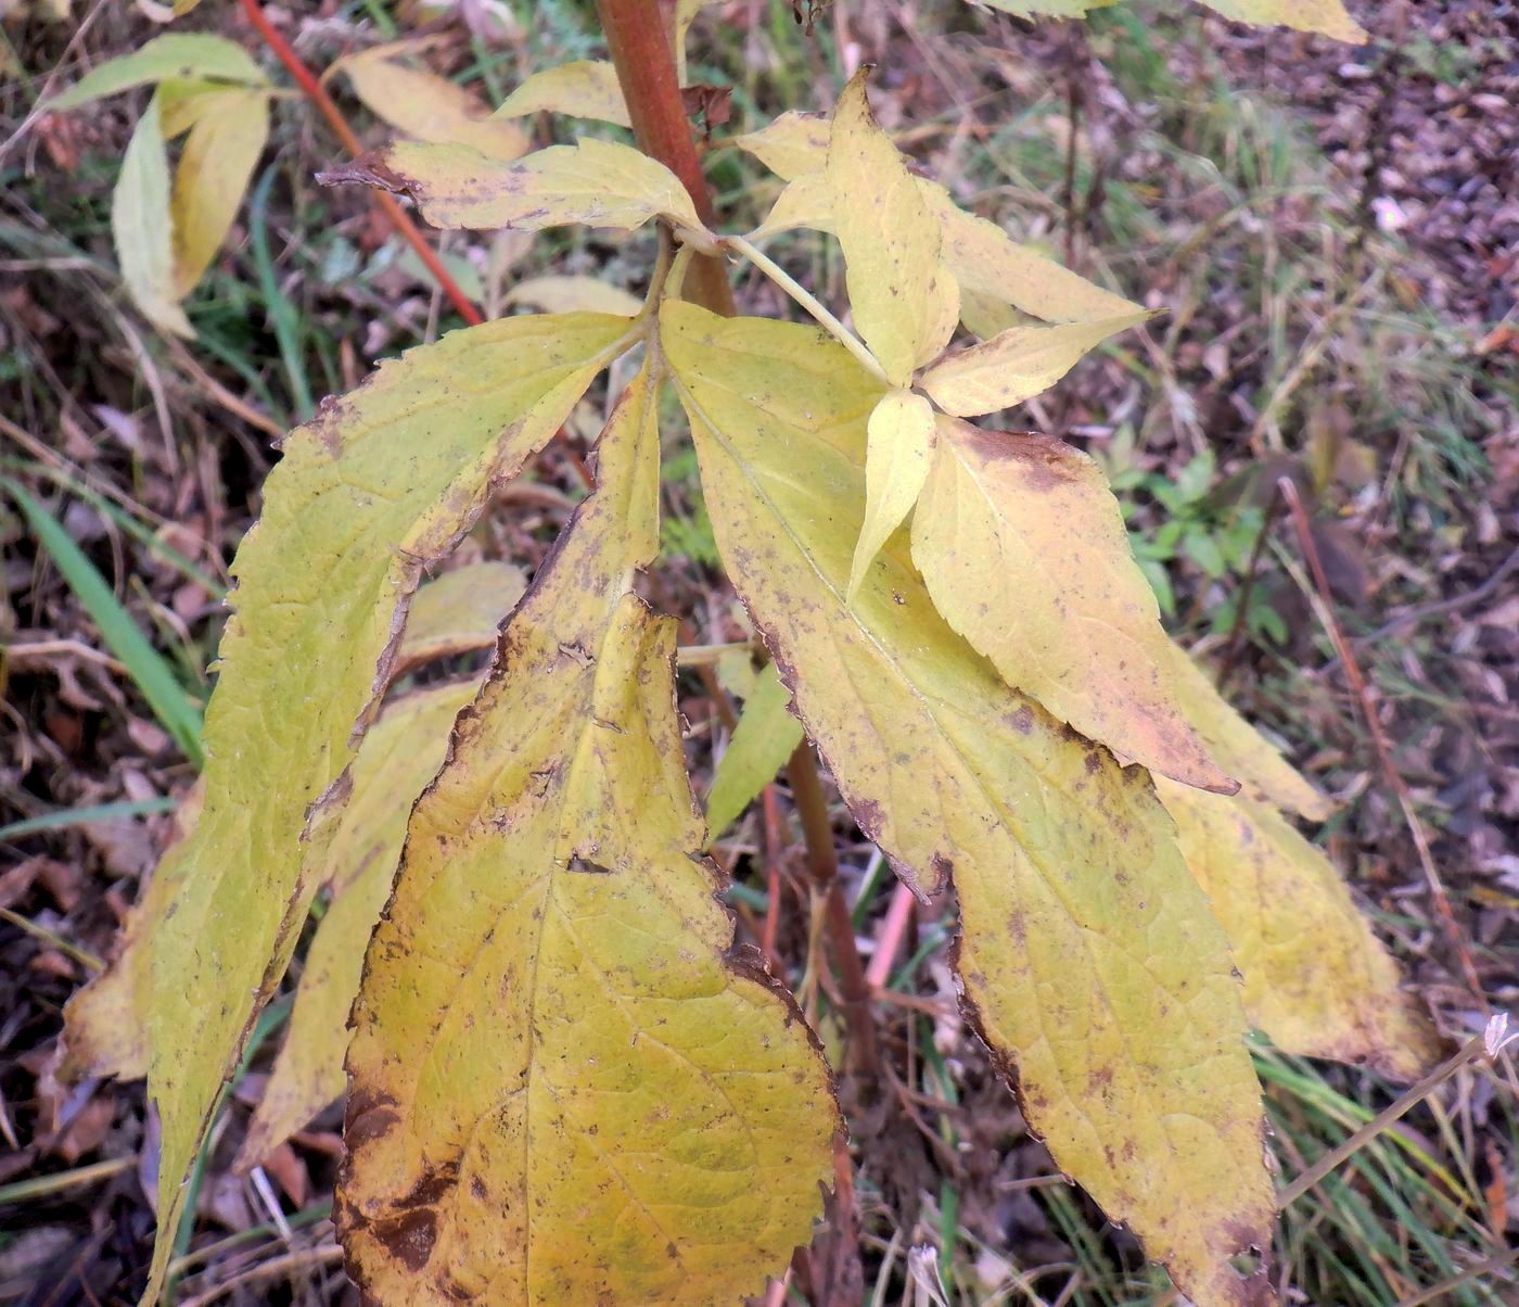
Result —
[[[529,141],[516,123],[492,119],[463,87],[384,58],[395,47],[343,59],[340,67],[365,106],[418,141],[472,146],[489,160],[515,160]]]

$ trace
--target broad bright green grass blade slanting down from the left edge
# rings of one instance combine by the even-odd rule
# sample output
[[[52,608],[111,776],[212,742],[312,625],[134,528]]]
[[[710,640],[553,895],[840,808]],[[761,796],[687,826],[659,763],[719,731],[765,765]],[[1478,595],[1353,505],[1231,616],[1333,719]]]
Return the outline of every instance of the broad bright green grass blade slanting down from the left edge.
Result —
[[[175,743],[184,749],[185,755],[197,767],[204,766],[205,752],[201,748],[201,713],[190,701],[184,685],[179,684],[173,669],[147,643],[147,637],[137,628],[131,614],[120,605],[111,587],[106,585],[105,578],[85,558],[62,524],[9,477],[0,477],[0,485],[20,505],[38,543],[94,620],[100,631],[100,638],[105,640],[111,652],[131,672],[137,688],[141,690],[147,707],[152,708],[159,725],[169,731]]]

